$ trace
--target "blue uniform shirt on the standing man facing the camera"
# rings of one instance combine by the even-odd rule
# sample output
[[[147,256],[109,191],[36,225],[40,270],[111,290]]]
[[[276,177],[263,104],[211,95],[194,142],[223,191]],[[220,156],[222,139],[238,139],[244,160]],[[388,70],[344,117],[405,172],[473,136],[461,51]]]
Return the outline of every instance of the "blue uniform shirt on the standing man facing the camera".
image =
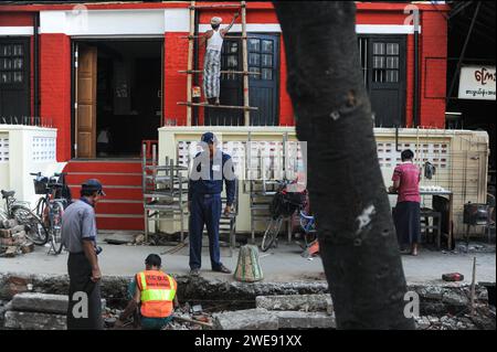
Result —
[[[204,151],[209,153],[209,150]],[[235,180],[234,178],[226,178],[224,171],[231,168],[231,174],[234,177],[234,168],[232,159],[229,154],[222,152],[221,150],[215,150],[215,154],[212,159],[210,159],[210,177],[202,178],[202,162],[201,157],[202,153],[198,153],[193,160],[193,169],[197,170],[198,178],[192,178],[190,174],[189,185],[188,185],[188,200],[191,201],[193,194],[219,194],[223,191],[223,181],[226,184],[226,205],[232,205],[234,201],[235,193]],[[220,154],[222,158],[220,158]],[[221,166],[222,160],[222,166]],[[228,164],[226,164],[228,163]],[[192,173],[195,171],[192,170]],[[199,177],[200,175],[200,177]]]

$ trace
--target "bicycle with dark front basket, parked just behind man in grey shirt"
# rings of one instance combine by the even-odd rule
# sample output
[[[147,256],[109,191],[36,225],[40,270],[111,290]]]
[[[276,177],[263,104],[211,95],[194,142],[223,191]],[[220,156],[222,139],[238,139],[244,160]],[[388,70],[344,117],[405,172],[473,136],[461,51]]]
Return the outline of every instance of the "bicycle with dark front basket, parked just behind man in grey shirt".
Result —
[[[53,250],[54,254],[60,254],[63,248],[62,215],[71,203],[71,191],[65,184],[66,173],[54,173],[51,178],[42,175],[41,172],[30,174],[35,177],[34,192],[43,195],[36,202],[35,211],[49,232],[49,253]]]

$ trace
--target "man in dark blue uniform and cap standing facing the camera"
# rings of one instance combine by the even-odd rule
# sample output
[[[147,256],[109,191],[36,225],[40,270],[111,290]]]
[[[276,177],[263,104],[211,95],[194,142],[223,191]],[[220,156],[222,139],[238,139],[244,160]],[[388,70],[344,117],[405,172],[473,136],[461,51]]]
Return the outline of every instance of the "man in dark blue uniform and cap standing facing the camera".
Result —
[[[221,218],[221,192],[223,181],[226,184],[226,206],[224,214],[231,212],[235,193],[233,162],[229,154],[216,148],[212,132],[202,135],[203,151],[193,159],[188,188],[188,207],[190,211],[190,274],[199,275],[202,255],[202,232],[207,226],[209,252],[213,271],[231,274],[220,258],[219,221]]]

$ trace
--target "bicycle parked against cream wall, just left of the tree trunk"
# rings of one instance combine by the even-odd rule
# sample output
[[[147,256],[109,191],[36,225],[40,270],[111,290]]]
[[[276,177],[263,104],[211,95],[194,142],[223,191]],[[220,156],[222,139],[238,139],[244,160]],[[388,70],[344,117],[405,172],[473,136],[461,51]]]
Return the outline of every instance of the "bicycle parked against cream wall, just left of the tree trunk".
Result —
[[[272,247],[272,245],[277,241],[279,231],[282,230],[282,224],[285,218],[288,218],[295,214],[296,211],[299,212],[300,216],[305,215],[303,213],[307,204],[307,190],[289,191],[288,186],[295,184],[295,182],[281,181],[269,205],[271,221],[267,224],[266,231],[264,232],[263,241],[261,243],[261,250],[266,252]],[[294,192],[295,191],[295,192]],[[300,218],[300,223],[303,223]],[[313,220],[314,222],[314,220]]]

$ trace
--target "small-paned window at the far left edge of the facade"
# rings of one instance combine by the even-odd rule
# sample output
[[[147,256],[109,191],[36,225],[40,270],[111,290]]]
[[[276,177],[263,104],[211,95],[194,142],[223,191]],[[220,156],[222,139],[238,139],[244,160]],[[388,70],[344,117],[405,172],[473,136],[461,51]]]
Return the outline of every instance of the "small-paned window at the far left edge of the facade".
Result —
[[[0,84],[24,82],[24,51],[22,44],[0,45]]]

